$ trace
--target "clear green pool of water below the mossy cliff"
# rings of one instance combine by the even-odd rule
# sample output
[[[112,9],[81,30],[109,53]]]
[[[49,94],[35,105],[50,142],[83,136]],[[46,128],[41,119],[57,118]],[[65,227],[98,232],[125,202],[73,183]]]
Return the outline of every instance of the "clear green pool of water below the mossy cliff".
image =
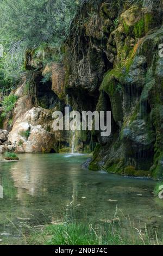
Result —
[[[62,221],[65,216],[102,223],[114,217],[116,205],[136,227],[146,223],[162,230],[163,203],[153,196],[155,181],[82,169],[86,155],[19,157],[18,162],[0,159],[0,233],[20,236],[26,225],[30,232],[30,227]]]

